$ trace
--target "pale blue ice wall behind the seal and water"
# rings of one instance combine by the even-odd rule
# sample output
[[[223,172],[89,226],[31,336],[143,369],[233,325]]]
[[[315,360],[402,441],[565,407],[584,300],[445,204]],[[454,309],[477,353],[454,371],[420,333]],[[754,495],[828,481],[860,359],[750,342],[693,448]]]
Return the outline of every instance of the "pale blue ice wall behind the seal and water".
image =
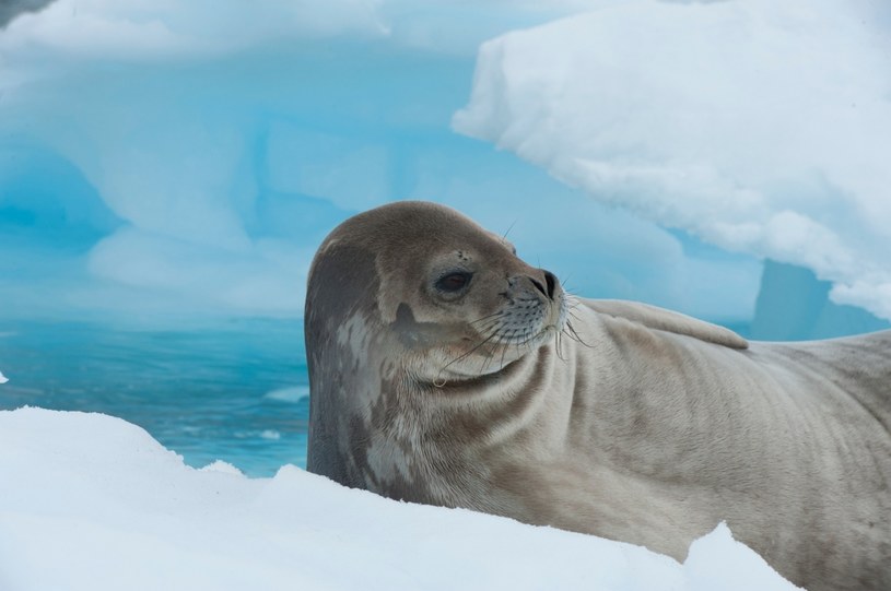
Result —
[[[300,316],[323,236],[456,206],[571,289],[712,319],[761,272],[454,133],[484,39],[602,2],[57,0],[0,31],[0,315]]]

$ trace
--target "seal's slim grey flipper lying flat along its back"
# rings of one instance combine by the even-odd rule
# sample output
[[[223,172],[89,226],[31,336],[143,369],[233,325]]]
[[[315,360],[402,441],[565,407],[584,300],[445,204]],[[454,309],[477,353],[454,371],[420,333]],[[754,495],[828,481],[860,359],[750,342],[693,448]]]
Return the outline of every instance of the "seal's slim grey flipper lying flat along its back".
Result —
[[[697,320],[680,312],[666,310],[665,308],[622,299],[578,298],[578,302],[598,314],[624,318],[650,329],[685,334],[700,341],[730,348],[749,348],[749,342],[730,329]]]

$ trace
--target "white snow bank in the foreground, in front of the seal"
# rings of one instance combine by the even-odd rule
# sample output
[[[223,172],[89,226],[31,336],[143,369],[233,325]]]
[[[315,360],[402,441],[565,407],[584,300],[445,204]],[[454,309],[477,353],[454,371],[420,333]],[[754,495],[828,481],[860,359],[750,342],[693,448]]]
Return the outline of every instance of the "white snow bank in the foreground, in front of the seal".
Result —
[[[789,590],[720,524],[683,565],[643,547],[353,490],[285,465],[186,466],[119,418],[0,412],[4,591]]]

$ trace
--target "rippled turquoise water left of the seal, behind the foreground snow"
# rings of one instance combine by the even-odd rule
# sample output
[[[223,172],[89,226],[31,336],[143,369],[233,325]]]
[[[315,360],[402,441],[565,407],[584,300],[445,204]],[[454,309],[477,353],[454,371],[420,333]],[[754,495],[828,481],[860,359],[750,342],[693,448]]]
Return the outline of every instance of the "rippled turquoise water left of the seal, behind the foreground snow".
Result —
[[[176,330],[0,320],[0,410],[119,416],[200,468],[251,476],[306,464],[309,388],[300,320]]]

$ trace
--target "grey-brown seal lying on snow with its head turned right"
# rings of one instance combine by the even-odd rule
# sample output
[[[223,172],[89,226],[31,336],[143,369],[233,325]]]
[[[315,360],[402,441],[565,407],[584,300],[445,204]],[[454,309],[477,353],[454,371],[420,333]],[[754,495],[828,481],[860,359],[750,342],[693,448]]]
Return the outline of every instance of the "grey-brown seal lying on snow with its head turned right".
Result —
[[[807,343],[567,295],[433,203],[309,271],[307,468],[683,559],[726,521],[810,590],[891,589],[891,331]]]

